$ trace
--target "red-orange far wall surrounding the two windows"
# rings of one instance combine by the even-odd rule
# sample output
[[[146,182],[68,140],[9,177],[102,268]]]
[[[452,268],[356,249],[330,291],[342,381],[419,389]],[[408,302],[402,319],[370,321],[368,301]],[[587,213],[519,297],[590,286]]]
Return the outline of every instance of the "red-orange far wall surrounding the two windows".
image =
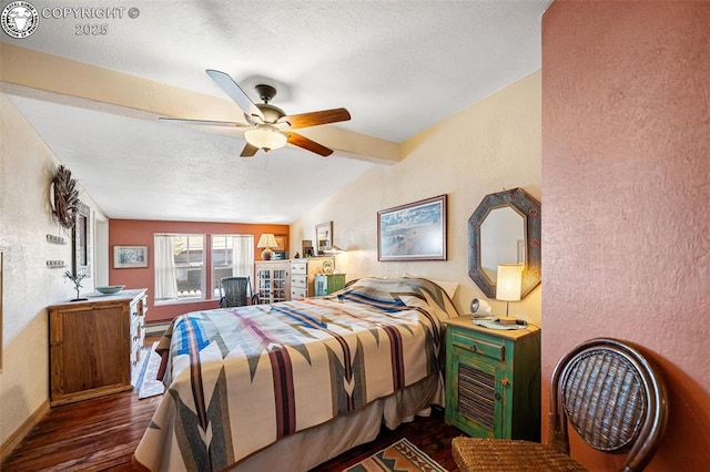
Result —
[[[155,233],[196,233],[196,234],[252,234],[254,235],[254,255],[258,260],[261,249],[256,248],[262,233],[288,235],[288,225],[251,225],[240,223],[191,223],[191,222],[155,222],[141,219],[109,220],[109,284],[125,284],[126,288],[148,288],[149,310],[146,322],[168,321],[187,311],[212,309],[217,307],[216,300],[193,301],[187,304],[155,306],[153,300],[154,266],[153,236]],[[113,246],[149,246],[149,265],[146,268],[113,268]],[[206,255],[207,287],[210,283],[210,254]]]

